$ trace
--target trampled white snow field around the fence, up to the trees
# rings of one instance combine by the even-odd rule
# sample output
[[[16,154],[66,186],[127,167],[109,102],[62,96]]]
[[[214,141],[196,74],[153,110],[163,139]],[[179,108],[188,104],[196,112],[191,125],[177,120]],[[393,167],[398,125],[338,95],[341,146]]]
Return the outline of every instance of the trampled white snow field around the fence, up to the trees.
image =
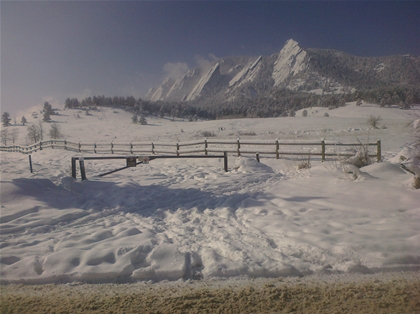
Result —
[[[324,117],[328,112],[329,117]],[[44,149],[1,153],[0,266],[3,282],[132,282],[214,277],[375,273],[420,268],[420,190],[398,166],[419,109],[374,105],[308,109],[295,118],[170,121],[108,109],[52,116],[69,141],[176,142],[216,138],[382,141],[384,161],[357,179],[334,161],[229,156],[161,159],[106,177],[122,161],[86,161]],[[77,114],[80,119],[77,119]],[[381,116],[378,129],[366,123]],[[28,117],[27,117],[28,118]],[[37,123],[36,119],[29,119]],[[44,126],[48,132],[48,125]],[[21,144],[26,127],[19,127]],[[86,156],[86,155],[85,155]]]

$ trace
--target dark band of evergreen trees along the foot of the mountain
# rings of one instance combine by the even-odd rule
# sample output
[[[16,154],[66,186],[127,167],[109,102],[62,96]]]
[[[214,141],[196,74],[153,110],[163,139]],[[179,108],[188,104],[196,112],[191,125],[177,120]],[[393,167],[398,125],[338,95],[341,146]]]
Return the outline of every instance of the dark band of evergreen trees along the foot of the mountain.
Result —
[[[245,84],[244,84],[245,85]],[[243,91],[249,90],[244,86]],[[131,112],[132,122],[147,124],[146,116],[197,119],[267,118],[294,116],[300,109],[319,106],[329,109],[344,106],[347,102],[364,101],[381,107],[399,106],[408,109],[420,103],[420,87],[393,86],[348,93],[325,93],[321,95],[279,88],[259,95],[238,92],[230,100],[217,96],[194,101],[149,101],[129,97],[87,97],[81,101],[68,98],[65,108],[99,110],[100,107],[119,108]]]

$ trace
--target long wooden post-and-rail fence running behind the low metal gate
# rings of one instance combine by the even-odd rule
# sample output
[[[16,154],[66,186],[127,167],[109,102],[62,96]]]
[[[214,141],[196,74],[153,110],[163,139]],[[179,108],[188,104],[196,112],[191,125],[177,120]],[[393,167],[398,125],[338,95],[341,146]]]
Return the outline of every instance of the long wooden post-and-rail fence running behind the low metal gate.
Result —
[[[173,154],[204,154],[228,152],[238,156],[245,154],[275,155],[277,159],[283,155],[302,155],[302,156],[321,156],[324,161],[327,156],[354,156],[360,148],[367,149],[376,146],[376,151],[369,154],[381,160],[381,141],[374,143],[337,143],[332,141],[313,141],[313,142],[287,142],[279,140],[216,140],[204,139],[201,141],[190,141],[183,143],[171,142],[130,142],[130,143],[75,143],[67,140],[48,140],[41,141],[29,146],[0,146],[3,152],[19,152],[32,154],[46,148],[64,149],[79,153],[93,154],[151,154],[163,155]]]

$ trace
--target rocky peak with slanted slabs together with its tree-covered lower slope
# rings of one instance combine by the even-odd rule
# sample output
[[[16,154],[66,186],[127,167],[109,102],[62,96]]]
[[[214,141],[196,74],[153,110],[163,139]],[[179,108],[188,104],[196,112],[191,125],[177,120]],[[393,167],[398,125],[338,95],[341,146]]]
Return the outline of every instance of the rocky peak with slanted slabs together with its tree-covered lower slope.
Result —
[[[290,39],[271,56],[221,58],[210,68],[193,68],[145,99],[218,110],[217,116],[272,117],[314,105],[339,107],[343,100],[410,106],[420,102],[418,86],[418,56],[358,57],[304,49]]]

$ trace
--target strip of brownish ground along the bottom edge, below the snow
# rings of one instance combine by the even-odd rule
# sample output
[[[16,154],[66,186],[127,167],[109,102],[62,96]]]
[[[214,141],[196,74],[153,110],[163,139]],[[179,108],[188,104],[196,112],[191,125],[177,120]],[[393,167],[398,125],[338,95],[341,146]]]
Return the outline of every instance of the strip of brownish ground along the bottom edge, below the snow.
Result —
[[[363,275],[356,281],[331,275],[292,281],[6,285],[1,286],[0,312],[420,313],[420,280],[415,272],[385,278]]]

